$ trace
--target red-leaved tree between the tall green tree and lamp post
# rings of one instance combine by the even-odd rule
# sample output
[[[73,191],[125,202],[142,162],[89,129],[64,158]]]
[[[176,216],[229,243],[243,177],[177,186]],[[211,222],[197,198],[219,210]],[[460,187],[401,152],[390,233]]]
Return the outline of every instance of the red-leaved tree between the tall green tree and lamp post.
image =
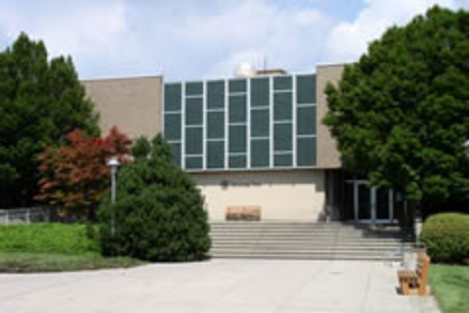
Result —
[[[117,157],[129,161],[131,140],[117,127],[107,137],[86,137],[82,130],[68,134],[68,145],[49,147],[39,158],[39,193],[35,199],[65,209],[76,217],[93,218],[101,195],[109,189],[106,163]]]

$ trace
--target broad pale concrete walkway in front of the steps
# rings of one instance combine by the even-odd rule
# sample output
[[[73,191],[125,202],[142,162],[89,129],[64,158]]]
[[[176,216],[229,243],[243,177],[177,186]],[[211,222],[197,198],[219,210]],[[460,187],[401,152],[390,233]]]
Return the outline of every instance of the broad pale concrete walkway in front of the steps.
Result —
[[[212,260],[132,269],[0,275],[0,312],[439,312],[397,295],[382,262]]]

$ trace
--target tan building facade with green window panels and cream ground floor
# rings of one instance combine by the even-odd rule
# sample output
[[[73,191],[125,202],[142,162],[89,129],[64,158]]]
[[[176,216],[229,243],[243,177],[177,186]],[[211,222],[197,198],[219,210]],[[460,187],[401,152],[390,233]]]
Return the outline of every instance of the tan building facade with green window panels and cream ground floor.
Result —
[[[201,189],[212,221],[225,220],[233,207],[256,207],[269,221],[390,222],[396,195],[347,180],[321,122],[325,86],[342,71],[343,65],[321,65],[316,73],[83,85],[104,132],[117,125],[132,138],[163,134],[174,162]]]

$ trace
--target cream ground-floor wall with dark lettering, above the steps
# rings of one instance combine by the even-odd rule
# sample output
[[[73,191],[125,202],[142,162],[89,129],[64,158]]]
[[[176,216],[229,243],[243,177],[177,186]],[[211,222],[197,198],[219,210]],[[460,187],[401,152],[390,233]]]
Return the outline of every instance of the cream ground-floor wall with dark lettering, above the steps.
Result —
[[[205,197],[211,221],[225,220],[227,206],[260,206],[262,220],[318,221],[324,212],[323,170],[190,175]],[[223,186],[223,181],[227,181],[227,187]]]

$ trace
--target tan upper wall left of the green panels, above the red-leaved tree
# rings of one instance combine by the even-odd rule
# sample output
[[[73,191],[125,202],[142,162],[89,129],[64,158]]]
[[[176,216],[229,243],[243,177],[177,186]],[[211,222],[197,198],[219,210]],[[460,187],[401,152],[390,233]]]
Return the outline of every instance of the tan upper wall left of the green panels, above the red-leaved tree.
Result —
[[[132,139],[151,138],[161,131],[162,77],[85,80],[82,84],[99,113],[103,135],[114,125]]]

